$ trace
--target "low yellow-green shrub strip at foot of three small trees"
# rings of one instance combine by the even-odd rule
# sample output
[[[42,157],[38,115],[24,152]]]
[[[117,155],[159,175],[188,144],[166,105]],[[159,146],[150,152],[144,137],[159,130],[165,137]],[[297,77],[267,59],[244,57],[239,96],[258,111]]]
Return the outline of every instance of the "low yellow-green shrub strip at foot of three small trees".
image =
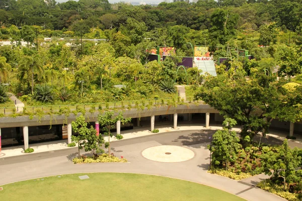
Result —
[[[78,163],[108,163],[108,162],[126,163],[128,161],[125,158],[118,158],[114,155],[108,155],[104,153],[97,157],[82,156],[81,158],[73,158],[72,162],[74,164],[78,164]]]

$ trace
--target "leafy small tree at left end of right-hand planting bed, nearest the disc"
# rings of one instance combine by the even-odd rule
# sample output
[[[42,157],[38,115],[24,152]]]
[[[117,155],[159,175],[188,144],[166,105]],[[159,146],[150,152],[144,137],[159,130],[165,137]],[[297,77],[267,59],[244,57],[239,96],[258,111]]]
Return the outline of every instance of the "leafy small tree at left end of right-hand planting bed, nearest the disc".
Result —
[[[230,125],[230,124],[229,124]],[[235,131],[228,128],[218,130],[213,135],[212,146],[208,149],[212,152],[214,166],[225,166],[228,169],[230,162],[235,162],[240,149],[239,138]]]

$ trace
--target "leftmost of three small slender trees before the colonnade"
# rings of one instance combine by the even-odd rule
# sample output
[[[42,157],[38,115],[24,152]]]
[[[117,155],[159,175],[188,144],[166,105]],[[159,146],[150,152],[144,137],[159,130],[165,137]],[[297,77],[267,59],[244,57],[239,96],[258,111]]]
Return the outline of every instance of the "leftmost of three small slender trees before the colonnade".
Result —
[[[78,143],[78,153],[79,153],[79,158],[81,157],[80,154],[80,149],[83,149],[85,145],[85,139],[86,135],[90,132],[89,129],[87,128],[87,122],[85,122],[85,117],[84,115],[81,115],[78,117],[75,122],[71,122],[71,127],[72,130],[76,133],[78,133],[78,136],[71,136],[71,140],[75,143]]]

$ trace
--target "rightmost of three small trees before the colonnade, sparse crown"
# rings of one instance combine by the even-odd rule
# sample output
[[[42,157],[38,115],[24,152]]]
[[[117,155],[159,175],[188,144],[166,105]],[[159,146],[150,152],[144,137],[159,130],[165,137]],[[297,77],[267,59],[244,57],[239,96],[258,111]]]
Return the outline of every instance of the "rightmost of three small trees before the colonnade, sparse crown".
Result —
[[[108,154],[110,155],[110,138],[113,137],[110,130],[116,125],[118,121],[121,121],[122,124],[125,124],[131,121],[131,118],[123,118],[123,114],[119,113],[115,118],[112,118],[114,112],[109,111],[106,112],[104,115],[98,116],[98,121],[100,126],[102,126],[102,130],[104,131],[104,135],[108,136],[108,142],[105,143],[105,148],[108,148]],[[121,140],[123,136],[120,133],[116,134],[116,139]]]

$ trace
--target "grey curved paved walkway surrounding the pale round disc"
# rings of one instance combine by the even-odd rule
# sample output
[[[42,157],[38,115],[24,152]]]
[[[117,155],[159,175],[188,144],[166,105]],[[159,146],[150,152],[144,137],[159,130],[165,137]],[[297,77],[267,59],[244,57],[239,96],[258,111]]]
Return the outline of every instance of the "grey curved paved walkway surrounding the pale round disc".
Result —
[[[209,136],[221,127],[211,125],[210,129],[202,126],[182,125],[178,131],[162,125],[159,134],[137,129],[137,132],[124,131],[124,140],[111,143],[112,152],[117,157],[123,156],[129,163],[99,163],[74,165],[71,160],[77,156],[77,148],[47,150],[43,153],[23,154],[22,156],[0,158],[0,185],[20,180],[45,177],[57,174],[81,172],[132,172],[162,175],[185,179],[212,186],[241,196],[247,200],[284,200],[281,197],[261,190],[254,185],[262,180],[262,175],[236,181],[207,173],[209,166]],[[189,130],[191,129],[191,130]],[[239,128],[235,129],[239,130]],[[123,132],[122,132],[123,133]],[[131,137],[132,136],[132,137]],[[268,136],[267,140],[282,143],[282,140]],[[280,141],[280,142],[279,142]],[[300,146],[298,142],[290,141]],[[189,149],[194,157],[183,162],[158,162],[142,156],[142,151],[149,147],[172,145]],[[48,145],[50,146],[50,145]],[[65,147],[64,147],[65,148]],[[8,151],[10,149],[4,150]],[[84,153],[84,152],[83,152]],[[84,153],[87,154],[87,153]],[[8,176],[10,175],[10,176]]]

